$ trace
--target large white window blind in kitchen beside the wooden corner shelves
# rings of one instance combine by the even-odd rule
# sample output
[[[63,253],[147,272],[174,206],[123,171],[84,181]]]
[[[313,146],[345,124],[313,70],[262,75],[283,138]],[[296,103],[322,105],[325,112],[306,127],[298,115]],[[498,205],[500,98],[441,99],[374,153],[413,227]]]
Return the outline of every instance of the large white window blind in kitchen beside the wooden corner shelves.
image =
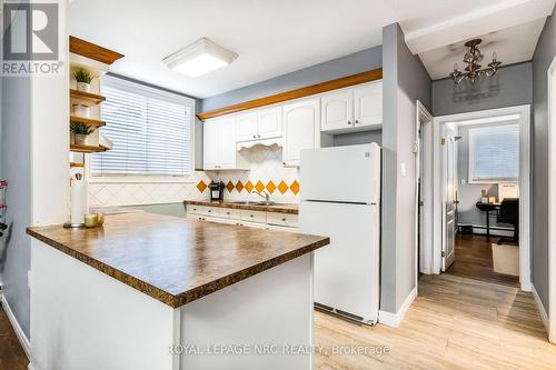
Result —
[[[92,154],[91,176],[190,177],[193,100],[113,77],[102,82],[102,133],[113,149]]]

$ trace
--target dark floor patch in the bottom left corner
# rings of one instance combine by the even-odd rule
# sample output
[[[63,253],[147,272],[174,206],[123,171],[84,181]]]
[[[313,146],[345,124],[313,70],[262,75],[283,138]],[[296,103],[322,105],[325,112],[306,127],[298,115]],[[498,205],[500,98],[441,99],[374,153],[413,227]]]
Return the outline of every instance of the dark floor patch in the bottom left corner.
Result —
[[[0,369],[27,370],[29,360],[3,309],[0,308]]]

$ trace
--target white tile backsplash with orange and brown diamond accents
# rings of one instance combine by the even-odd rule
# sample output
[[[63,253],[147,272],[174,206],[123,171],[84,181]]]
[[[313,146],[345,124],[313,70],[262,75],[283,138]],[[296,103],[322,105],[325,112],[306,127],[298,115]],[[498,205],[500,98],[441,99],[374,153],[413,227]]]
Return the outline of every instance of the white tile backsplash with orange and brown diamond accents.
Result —
[[[299,202],[299,170],[285,168],[278,146],[256,146],[242,149],[250,162],[249,171],[196,171],[195,182],[92,182],[89,183],[89,207],[139,206],[175,203],[209,198],[208,184],[222,181],[225,200],[260,200],[252,190],[267,191],[270,199],[281,203]]]

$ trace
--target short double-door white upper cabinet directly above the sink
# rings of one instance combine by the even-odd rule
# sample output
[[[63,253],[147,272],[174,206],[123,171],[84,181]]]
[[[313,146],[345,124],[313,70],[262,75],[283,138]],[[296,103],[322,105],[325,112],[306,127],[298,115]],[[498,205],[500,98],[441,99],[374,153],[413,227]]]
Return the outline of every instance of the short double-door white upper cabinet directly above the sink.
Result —
[[[259,109],[236,117],[236,141],[281,137],[281,106]]]

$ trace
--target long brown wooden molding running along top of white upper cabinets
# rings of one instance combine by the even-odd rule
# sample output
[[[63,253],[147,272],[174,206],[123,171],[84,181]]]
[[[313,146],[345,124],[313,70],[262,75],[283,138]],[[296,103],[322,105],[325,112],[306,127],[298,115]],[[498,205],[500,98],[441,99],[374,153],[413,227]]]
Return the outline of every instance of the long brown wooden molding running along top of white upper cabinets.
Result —
[[[321,83],[317,83],[317,84],[311,84],[311,86],[308,86],[305,88],[290,90],[290,91],[286,91],[286,92],[280,92],[280,93],[277,93],[274,96],[259,98],[259,99],[241,102],[241,103],[225,107],[225,108],[209,110],[209,111],[197,114],[197,117],[200,120],[206,120],[209,118],[215,118],[215,117],[225,116],[225,114],[229,114],[229,113],[236,113],[236,112],[240,112],[240,111],[248,110],[248,109],[254,109],[254,108],[276,104],[276,103],[288,101],[288,100],[305,98],[305,97],[314,96],[317,93],[327,92],[330,90],[347,88],[347,87],[350,87],[354,84],[376,81],[376,80],[380,80],[381,78],[383,78],[383,69],[377,68],[377,69],[374,69],[371,71],[357,73],[357,74],[353,74],[353,76],[348,76],[348,77],[342,77],[342,78],[339,78],[336,80],[330,80],[330,81],[326,81],[326,82],[321,82]]]

